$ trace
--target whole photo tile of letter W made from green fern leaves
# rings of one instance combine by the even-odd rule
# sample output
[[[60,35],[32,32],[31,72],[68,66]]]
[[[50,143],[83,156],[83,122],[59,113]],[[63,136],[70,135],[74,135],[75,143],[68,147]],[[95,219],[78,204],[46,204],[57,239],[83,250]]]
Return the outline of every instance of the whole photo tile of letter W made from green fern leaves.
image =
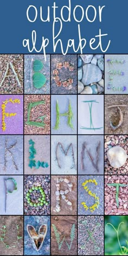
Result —
[[[77,216],[51,216],[51,237],[51,255],[77,255]]]

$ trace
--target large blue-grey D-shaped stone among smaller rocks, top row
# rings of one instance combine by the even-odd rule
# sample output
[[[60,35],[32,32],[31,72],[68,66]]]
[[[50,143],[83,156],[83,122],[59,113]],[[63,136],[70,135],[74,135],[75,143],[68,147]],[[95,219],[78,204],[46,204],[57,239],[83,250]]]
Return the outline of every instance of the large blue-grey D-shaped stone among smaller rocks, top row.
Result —
[[[98,82],[102,78],[102,72],[98,66],[87,64],[83,66],[82,84],[89,85]]]

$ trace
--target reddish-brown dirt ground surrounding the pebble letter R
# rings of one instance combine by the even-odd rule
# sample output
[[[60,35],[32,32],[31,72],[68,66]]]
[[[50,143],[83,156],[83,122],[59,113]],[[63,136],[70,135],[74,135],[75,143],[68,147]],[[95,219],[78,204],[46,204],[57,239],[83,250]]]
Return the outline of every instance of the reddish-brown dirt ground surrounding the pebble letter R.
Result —
[[[68,204],[65,202],[65,200],[61,199],[60,201],[60,208],[61,208],[61,211],[59,213],[56,212],[55,210],[55,206],[56,206],[56,195],[55,195],[55,191],[56,191],[56,178],[68,178],[68,180],[70,182],[73,183],[73,189],[71,192],[69,192],[66,197],[69,201],[72,202],[72,206],[73,206],[73,210],[71,211],[69,209],[69,206]],[[66,190],[68,189],[68,186],[65,182],[61,182],[60,183],[60,189],[61,190]],[[68,175],[68,176],[65,176],[65,175],[52,175],[51,177],[51,213],[53,215],[75,215],[77,214],[77,177],[75,175]]]

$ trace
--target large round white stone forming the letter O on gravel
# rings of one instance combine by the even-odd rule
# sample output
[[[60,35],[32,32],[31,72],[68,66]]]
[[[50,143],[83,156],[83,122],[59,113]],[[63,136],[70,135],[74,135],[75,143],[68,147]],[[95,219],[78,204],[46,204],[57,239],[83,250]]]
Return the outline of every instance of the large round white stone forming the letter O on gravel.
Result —
[[[127,154],[121,146],[113,146],[108,149],[107,157],[113,168],[120,168],[126,163]]]

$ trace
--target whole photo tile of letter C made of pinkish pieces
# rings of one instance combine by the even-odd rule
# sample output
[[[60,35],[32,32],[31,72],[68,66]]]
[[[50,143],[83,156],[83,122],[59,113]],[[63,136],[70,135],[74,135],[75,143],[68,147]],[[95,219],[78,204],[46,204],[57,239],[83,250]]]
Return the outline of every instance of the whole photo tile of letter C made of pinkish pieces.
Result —
[[[51,93],[77,94],[77,55],[51,55]]]

